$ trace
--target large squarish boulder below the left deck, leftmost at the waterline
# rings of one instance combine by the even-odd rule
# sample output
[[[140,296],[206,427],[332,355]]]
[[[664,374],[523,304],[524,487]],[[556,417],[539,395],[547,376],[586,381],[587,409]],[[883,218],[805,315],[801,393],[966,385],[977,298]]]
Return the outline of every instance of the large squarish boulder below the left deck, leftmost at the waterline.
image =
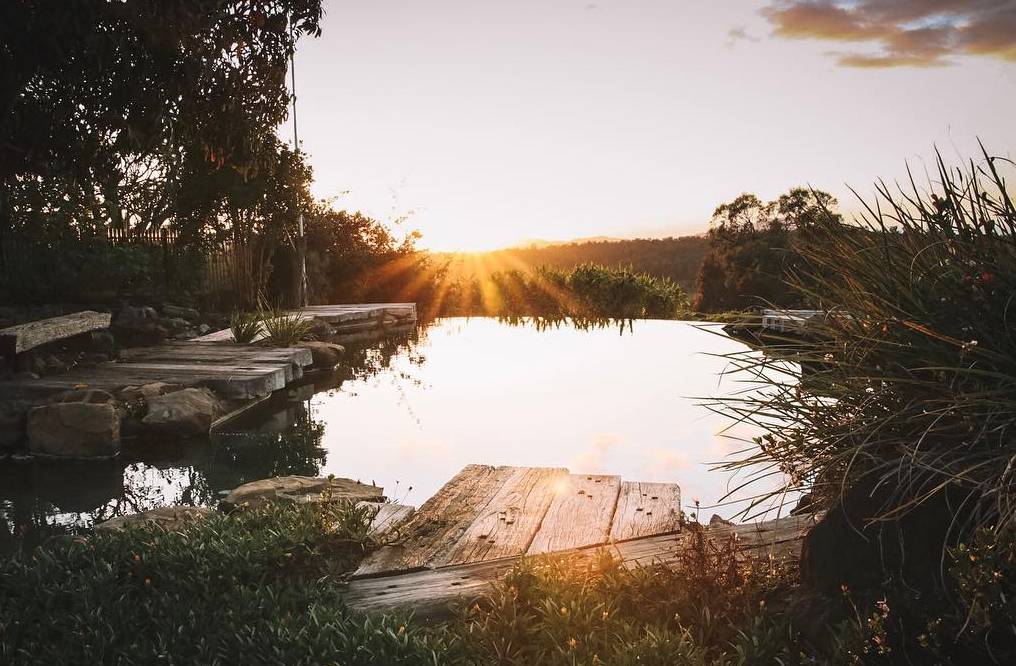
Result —
[[[28,451],[51,458],[112,458],[120,453],[113,405],[58,402],[28,411]]]

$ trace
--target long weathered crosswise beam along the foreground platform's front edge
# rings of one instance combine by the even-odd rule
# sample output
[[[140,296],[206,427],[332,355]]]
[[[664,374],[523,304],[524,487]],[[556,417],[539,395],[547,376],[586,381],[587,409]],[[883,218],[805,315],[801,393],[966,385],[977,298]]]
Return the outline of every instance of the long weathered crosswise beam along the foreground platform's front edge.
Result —
[[[722,542],[737,535],[746,556],[795,561],[800,555],[801,541],[817,517],[789,516],[761,524],[704,527],[705,535]],[[693,530],[679,534],[642,537],[606,546],[592,546],[553,553],[553,557],[574,557],[578,562],[598,556],[606,550],[618,557],[625,567],[662,564],[678,567],[682,552],[694,541]],[[548,555],[544,555],[548,556]],[[353,581],[345,595],[351,608],[366,612],[386,612],[395,608],[411,609],[424,620],[448,616],[453,602],[471,600],[490,590],[519,557],[488,560],[457,567],[400,574],[384,578]]]

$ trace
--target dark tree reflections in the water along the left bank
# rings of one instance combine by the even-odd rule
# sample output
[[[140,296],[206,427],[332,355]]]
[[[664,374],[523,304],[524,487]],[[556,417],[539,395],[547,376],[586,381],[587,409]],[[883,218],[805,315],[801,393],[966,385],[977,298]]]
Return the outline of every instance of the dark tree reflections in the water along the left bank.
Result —
[[[346,362],[316,378],[313,392],[389,372],[395,358],[421,365],[426,337],[414,329],[351,344]],[[417,382],[404,372],[394,376]],[[224,491],[262,478],[317,476],[327,455],[323,437],[308,400],[209,438],[125,443],[117,460],[0,464],[0,554],[115,516],[168,505],[214,506]]]

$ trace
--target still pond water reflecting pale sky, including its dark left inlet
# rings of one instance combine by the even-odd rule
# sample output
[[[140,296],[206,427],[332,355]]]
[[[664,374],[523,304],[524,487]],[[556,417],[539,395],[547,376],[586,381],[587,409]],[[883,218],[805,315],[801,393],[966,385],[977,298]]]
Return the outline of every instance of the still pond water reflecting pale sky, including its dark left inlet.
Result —
[[[710,468],[756,432],[702,403],[744,389],[721,357],[744,349],[686,322],[437,320],[351,347],[313,391],[207,440],[125,443],[110,463],[0,464],[0,548],[160,506],[213,506],[275,475],[374,481],[419,506],[468,463],[675,482],[686,511],[698,498],[704,519],[731,517],[743,505],[711,507],[743,477]]]

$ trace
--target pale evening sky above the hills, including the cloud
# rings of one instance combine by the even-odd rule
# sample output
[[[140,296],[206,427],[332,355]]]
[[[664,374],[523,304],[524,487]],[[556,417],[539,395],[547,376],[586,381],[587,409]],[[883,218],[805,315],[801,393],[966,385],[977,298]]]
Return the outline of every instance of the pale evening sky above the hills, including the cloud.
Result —
[[[696,234],[799,185],[850,211],[936,144],[1016,151],[1014,5],[326,0],[300,139],[316,196],[435,250]]]

